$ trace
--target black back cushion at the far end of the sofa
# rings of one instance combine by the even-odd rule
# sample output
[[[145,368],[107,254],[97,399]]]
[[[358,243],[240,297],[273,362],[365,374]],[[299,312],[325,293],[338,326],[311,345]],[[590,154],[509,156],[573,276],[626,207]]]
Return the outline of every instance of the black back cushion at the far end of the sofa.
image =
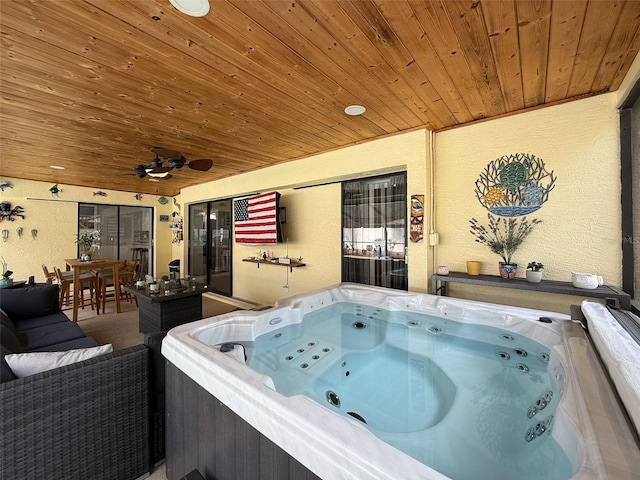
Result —
[[[60,311],[58,285],[29,285],[5,288],[0,294],[0,308],[14,322],[24,318],[43,317]]]

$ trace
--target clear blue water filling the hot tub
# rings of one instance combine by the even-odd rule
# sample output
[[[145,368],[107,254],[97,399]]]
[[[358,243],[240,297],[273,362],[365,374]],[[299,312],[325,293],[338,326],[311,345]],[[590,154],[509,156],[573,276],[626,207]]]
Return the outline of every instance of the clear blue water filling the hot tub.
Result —
[[[458,480],[565,480],[550,432],[563,372],[494,327],[341,303],[244,344],[283,395],[303,394]]]

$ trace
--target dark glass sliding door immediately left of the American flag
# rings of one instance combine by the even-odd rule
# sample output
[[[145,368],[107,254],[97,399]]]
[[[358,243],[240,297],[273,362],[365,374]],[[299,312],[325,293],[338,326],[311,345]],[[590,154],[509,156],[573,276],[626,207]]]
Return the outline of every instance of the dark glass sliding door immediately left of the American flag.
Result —
[[[231,200],[189,207],[189,275],[231,296]]]

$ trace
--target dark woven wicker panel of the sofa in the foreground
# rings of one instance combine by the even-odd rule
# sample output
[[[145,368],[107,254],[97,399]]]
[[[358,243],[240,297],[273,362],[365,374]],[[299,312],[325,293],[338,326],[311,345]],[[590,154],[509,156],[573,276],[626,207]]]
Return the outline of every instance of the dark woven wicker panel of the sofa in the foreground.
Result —
[[[133,480],[150,470],[144,345],[0,384],[0,478]]]

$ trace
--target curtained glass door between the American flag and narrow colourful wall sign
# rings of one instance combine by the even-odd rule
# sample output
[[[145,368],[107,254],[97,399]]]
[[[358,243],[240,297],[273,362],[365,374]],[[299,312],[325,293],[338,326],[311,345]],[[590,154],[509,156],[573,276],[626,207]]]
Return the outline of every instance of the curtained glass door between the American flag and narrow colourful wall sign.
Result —
[[[406,174],[342,184],[342,281],[407,290]]]

